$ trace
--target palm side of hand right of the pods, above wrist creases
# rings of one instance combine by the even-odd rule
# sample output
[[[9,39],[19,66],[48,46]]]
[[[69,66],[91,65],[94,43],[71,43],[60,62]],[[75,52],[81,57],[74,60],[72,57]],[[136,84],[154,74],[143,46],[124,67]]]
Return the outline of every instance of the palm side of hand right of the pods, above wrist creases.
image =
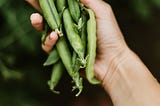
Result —
[[[92,9],[96,16],[97,54],[94,68],[95,76],[103,83],[105,77],[108,79],[112,77],[110,73],[113,73],[118,65],[113,65],[113,61],[117,60],[118,63],[128,47],[109,4],[102,0],[81,0],[81,2]]]

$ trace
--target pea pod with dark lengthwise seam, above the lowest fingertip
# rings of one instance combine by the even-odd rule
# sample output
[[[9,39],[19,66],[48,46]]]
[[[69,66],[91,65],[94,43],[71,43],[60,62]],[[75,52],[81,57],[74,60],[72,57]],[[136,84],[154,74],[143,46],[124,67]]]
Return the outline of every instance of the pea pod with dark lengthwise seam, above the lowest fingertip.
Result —
[[[57,12],[57,9],[55,7],[53,0],[39,0],[40,7],[42,9],[44,18],[46,19],[49,27],[52,30],[56,30],[60,33],[60,25],[61,20],[59,17],[59,14]]]

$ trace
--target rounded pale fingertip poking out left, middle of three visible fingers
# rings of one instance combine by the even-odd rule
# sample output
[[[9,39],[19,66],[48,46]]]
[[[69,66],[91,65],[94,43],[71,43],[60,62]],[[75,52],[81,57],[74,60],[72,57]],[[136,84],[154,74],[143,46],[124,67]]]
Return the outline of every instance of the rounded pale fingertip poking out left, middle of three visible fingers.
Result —
[[[42,32],[43,30],[43,17],[39,13],[33,13],[30,16],[32,26],[38,31]]]

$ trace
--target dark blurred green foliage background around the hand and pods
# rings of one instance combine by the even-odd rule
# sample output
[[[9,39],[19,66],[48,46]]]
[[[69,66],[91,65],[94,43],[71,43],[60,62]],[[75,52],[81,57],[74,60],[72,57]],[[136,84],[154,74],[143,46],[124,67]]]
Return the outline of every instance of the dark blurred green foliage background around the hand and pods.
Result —
[[[160,81],[160,0],[107,0],[127,44]],[[41,35],[30,24],[37,12],[25,0],[0,0],[0,106],[106,106],[100,86],[84,81],[76,98],[67,73],[53,94],[47,85],[50,70]]]

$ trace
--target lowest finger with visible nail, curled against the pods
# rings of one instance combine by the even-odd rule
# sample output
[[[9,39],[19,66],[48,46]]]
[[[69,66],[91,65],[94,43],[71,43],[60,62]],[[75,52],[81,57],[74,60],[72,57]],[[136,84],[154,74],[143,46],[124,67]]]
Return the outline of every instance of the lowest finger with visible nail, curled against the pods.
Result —
[[[56,44],[56,41],[58,40],[58,35],[56,32],[51,32],[49,34],[49,36],[46,37],[46,40],[44,42],[44,44],[42,44],[42,49],[46,52],[46,53],[50,53],[50,51],[52,50],[52,47]]]

